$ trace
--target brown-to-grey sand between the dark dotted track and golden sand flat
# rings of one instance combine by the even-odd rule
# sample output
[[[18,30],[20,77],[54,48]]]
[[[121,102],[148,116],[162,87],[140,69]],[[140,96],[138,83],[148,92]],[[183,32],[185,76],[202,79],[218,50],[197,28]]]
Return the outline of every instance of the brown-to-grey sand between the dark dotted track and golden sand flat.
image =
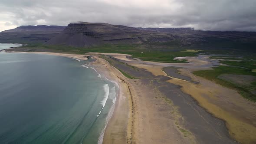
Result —
[[[158,71],[157,73],[156,69],[161,70],[159,65],[157,67],[145,66],[143,62],[140,67],[139,63],[135,63],[135,65],[131,62],[127,63],[132,66],[136,65],[138,69],[121,65],[118,62],[112,62],[112,65],[129,75],[140,78],[130,80],[131,85],[135,85],[135,91],[138,94],[135,97],[135,105],[138,102],[135,110],[136,108],[139,109],[139,112],[135,113],[135,128],[137,128],[135,135],[138,137],[137,141],[139,143],[236,143],[229,136],[224,121],[209,114],[204,108],[201,108],[197,101],[191,98],[190,95],[181,91],[179,85],[168,82],[177,78],[163,76],[166,75],[163,71]],[[155,73],[155,75],[150,72],[151,69],[153,69],[152,73]],[[187,82],[182,79],[178,80]],[[134,84],[132,81],[136,81],[137,84]],[[146,104],[143,105],[143,103]],[[163,103],[169,105],[165,107]],[[145,115],[148,111],[155,113],[154,116],[150,114]],[[136,117],[138,117],[138,120]],[[166,118],[165,121],[162,118]],[[136,131],[138,131],[137,134]],[[158,138],[155,139],[148,139],[149,137],[154,137],[156,131],[157,133],[162,132],[161,135],[158,135]],[[175,139],[172,137],[173,134],[178,135],[178,132],[181,134],[179,138]]]

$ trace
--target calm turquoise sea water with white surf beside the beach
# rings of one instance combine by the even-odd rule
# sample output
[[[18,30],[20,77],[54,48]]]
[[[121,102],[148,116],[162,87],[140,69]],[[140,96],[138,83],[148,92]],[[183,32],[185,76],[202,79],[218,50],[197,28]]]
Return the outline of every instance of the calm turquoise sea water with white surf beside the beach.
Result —
[[[89,61],[0,52],[0,144],[96,144],[118,87]]]

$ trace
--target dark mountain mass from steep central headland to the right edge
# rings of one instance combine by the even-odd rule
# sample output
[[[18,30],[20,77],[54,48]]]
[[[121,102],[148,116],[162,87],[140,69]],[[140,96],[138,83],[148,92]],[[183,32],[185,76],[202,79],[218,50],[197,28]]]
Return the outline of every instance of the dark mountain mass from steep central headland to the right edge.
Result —
[[[255,46],[255,32],[202,31],[193,28],[140,28],[108,23],[70,23],[49,45],[77,47],[144,43],[161,46]],[[224,44],[223,44],[224,43]]]

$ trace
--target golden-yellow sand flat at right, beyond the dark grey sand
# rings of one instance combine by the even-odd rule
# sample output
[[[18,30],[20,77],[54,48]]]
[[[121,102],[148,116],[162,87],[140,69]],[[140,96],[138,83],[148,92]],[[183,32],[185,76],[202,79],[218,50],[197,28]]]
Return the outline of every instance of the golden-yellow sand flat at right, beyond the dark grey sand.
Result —
[[[235,90],[193,75],[198,69],[179,69],[200,84],[172,79],[168,82],[181,85],[183,92],[195,98],[207,111],[226,121],[229,133],[244,144],[256,143],[256,103],[243,98]]]

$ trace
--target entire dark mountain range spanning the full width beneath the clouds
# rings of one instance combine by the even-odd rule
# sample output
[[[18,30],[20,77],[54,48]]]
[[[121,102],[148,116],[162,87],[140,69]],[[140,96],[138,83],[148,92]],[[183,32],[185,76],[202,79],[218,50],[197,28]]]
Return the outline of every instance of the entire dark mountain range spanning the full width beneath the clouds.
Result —
[[[0,43],[46,43],[75,47],[143,43],[161,47],[254,48],[256,32],[202,31],[193,28],[140,28],[108,23],[19,26],[0,33]]]

